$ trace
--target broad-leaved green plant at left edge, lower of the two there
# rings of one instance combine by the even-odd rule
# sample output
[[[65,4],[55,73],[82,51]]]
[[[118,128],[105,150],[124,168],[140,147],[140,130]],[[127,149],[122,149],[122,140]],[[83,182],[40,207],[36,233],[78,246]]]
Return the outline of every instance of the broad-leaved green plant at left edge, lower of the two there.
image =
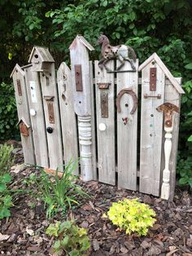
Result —
[[[13,206],[11,191],[7,184],[11,183],[11,175],[3,174],[0,176],[0,219],[11,215],[10,208]]]

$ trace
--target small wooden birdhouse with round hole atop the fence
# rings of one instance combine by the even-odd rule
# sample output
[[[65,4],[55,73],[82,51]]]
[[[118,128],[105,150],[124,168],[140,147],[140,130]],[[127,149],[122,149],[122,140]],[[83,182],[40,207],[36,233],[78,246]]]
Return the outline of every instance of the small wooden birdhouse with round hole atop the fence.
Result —
[[[33,64],[33,71],[49,71],[50,63],[55,62],[46,47],[34,46],[29,57],[28,63]]]

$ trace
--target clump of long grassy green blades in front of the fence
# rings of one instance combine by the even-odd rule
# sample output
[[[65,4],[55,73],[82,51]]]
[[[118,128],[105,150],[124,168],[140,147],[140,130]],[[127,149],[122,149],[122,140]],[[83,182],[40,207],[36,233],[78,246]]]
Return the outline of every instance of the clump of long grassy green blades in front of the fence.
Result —
[[[76,170],[76,162],[69,162],[61,177],[59,177],[58,170],[55,175],[46,174],[42,169],[39,177],[31,174],[29,179],[36,184],[40,192],[38,196],[45,203],[47,218],[59,211],[65,214],[68,207],[78,205],[77,196],[88,196],[75,183],[76,176],[72,175],[74,170]]]

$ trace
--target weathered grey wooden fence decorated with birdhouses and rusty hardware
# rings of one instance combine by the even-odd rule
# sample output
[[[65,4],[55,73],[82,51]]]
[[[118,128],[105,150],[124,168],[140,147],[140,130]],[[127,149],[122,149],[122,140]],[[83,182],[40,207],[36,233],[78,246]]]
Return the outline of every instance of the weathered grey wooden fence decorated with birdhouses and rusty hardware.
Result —
[[[155,53],[140,66],[136,60],[136,72],[126,61],[109,73],[89,61],[94,48],[85,38],[76,36],[69,49],[71,70],[62,63],[56,77],[55,61],[39,46],[11,73],[24,162],[63,170],[80,157],[76,174],[85,181],[172,200],[181,78]],[[115,60],[107,66],[114,70]]]

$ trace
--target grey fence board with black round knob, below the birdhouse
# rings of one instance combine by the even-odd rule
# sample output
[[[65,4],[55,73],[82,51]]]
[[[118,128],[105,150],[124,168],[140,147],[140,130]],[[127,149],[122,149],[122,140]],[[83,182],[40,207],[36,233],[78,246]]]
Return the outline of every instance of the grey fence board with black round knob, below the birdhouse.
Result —
[[[49,73],[40,73],[40,80],[46,130],[48,127],[53,129],[52,133],[46,131],[50,169],[63,170],[63,147],[54,63],[49,64],[49,70]]]

